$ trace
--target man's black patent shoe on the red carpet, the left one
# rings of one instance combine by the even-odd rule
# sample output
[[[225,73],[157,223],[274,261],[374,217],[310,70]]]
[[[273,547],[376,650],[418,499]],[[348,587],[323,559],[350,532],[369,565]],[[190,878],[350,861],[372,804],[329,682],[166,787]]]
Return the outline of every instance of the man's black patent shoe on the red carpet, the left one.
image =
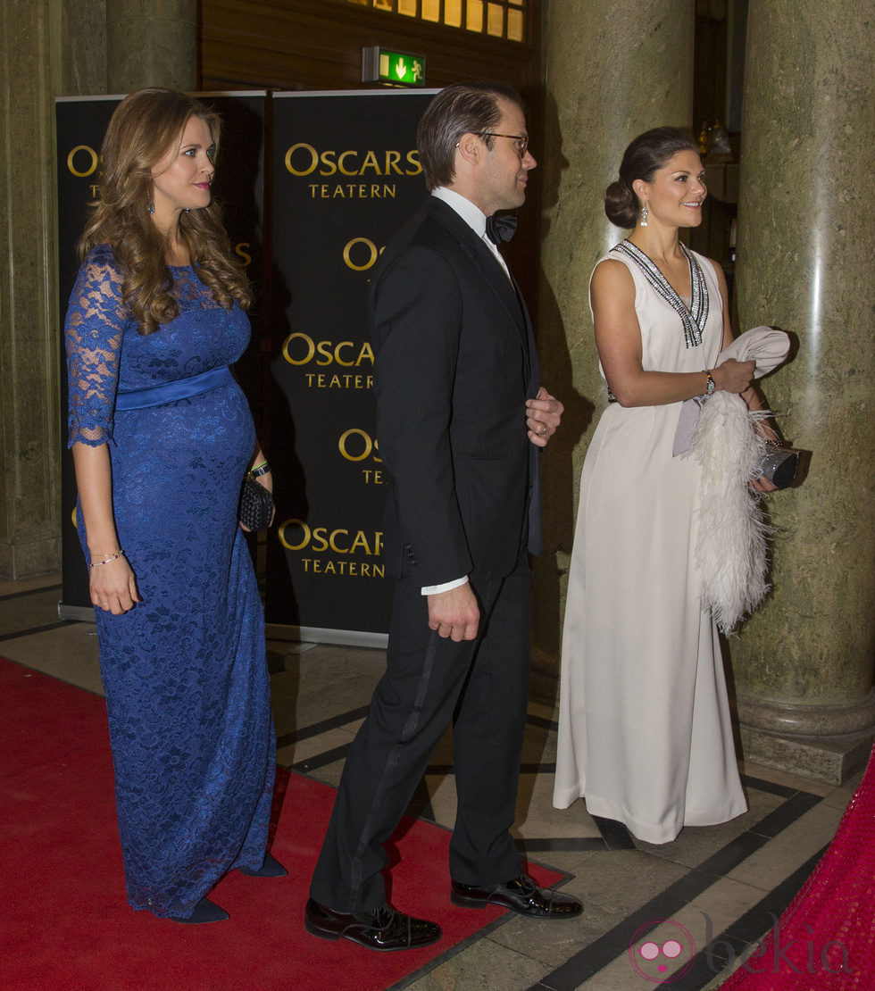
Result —
[[[308,899],[304,910],[304,929],[322,939],[350,939],[383,952],[392,949],[417,949],[429,946],[441,937],[437,923],[413,919],[383,905],[371,912],[347,915]]]

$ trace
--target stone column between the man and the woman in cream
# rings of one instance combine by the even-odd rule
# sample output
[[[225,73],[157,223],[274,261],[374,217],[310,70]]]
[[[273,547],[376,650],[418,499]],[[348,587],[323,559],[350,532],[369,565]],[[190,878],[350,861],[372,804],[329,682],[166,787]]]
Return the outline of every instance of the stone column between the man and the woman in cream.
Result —
[[[544,206],[537,330],[542,382],[566,412],[542,461],[545,539],[535,573],[534,660],[536,672],[555,678],[581,468],[606,402],[590,275],[623,236],[604,216],[602,193],[637,134],[691,125],[695,4],[544,6],[545,133],[540,154],[534,150]]]

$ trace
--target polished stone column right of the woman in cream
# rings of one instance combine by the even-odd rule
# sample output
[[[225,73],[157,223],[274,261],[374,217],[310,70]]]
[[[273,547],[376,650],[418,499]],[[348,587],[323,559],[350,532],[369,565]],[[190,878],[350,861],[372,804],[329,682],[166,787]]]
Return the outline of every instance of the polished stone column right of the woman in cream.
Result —
[[[798,489],[768,499],[771,598],[730,642],[748,757],[837,782],[875,723],[871,27],[875,0],[752,0],[738,208],[741,326],[798,345],[763,383]]]

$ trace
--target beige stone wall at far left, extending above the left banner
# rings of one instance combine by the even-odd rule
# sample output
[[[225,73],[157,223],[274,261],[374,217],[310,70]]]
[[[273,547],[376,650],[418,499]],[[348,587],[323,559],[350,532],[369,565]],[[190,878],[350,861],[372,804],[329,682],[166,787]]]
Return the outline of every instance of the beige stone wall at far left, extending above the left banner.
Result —
[[[2,578],[60,563],[55,97],[192,89],[196,36],[195,0],[0,4]]]

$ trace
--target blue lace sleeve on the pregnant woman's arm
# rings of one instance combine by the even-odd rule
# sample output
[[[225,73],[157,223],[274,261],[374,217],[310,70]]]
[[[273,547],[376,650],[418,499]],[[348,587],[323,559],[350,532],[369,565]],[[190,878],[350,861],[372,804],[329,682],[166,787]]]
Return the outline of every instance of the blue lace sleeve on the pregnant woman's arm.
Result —
[[[85,259],[70,294],[64,339],[68,390],[67,447],[112,440],[122,336],[129,313],[122,276],[109,253]]]

